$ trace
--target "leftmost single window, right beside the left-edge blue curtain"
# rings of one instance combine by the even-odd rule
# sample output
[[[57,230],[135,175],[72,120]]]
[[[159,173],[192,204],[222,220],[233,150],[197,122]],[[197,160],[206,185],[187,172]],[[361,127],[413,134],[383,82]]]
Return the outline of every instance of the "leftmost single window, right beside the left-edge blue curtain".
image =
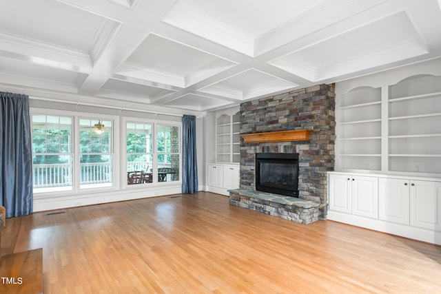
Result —
[[[34,192],[72,190],[72,117],[32,116]]]

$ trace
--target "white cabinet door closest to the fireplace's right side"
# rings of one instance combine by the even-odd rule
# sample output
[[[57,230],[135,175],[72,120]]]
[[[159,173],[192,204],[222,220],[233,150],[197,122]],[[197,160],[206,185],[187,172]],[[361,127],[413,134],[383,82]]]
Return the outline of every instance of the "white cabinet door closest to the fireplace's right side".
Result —
[[[329,175],[329,210],[351,213],[351,177]]]

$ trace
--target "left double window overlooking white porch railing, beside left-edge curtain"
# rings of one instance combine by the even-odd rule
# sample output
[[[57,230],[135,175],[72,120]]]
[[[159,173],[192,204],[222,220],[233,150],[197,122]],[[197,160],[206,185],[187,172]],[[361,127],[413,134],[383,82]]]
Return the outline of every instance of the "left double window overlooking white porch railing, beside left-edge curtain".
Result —
[[[34,193],[112,187],[113,132],[108,119],[32,114]]]

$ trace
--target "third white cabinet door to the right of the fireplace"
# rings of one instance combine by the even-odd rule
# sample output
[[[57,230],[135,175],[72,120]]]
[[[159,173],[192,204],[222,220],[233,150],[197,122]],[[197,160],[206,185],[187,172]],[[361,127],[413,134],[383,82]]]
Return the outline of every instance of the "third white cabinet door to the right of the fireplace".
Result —
[[[409,180],[378,180],[378,218],[398,224],[409,224]]]

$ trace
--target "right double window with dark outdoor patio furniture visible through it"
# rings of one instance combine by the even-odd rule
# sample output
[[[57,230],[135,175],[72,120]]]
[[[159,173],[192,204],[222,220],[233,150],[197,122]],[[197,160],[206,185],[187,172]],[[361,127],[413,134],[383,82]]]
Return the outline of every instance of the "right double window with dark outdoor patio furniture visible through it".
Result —
[[[179,180],[179,129],[176,125],[126,123],[127,185]]]

